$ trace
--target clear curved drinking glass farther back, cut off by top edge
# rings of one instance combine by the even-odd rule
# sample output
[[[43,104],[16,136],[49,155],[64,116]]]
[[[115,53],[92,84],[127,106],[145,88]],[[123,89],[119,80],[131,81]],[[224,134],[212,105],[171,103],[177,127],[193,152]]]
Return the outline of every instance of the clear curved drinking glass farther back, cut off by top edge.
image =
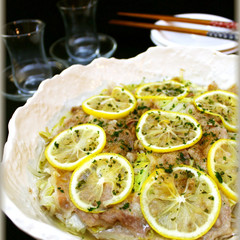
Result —
[[[62,0],[57,7],[66,32],[66,50],[75,63],[88,64],[99,56],[95,15],[97,0]]]

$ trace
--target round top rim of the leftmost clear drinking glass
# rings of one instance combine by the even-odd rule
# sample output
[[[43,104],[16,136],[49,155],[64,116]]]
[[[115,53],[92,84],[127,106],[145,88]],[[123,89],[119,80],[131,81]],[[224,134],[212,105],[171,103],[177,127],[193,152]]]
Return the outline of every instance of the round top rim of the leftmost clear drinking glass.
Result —
[[[20,33],[20,34],[7,34],[6,33],[6,29],[9,26],[17,26],[18,24],[29,24],[29,23],[35,23],[36,25],[38,24],[39,28],[37,30],[35,29],[33,31],[29,31],[26,33]],[[3,33],[1,34],[1,36],[4,38],[29,36],[29,35],[32,35],[32,34],[38,32],[39,30],[42,30],[45,26],[46,26],[46,24],[40,19],[19,19],[19,20],[5,23],[3,25]]]

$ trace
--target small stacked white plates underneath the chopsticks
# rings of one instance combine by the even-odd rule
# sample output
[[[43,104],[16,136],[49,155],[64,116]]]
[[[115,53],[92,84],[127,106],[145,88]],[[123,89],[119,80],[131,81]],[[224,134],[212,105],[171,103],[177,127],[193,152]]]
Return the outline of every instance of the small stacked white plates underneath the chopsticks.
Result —
[[[196,18],[196,19],[207,19],[213,21],[227,21],[230,22],[230,19],[211,15],[211,14],[200,14],[200,13],[186,13],[178,14],[177,17],[186,17],[186,18]],[[182,22],[166,22],[163,20],[157,21],[157,25],[173,25],[177,27],[184,28],[195,28],[195,29],[204,29],[208,31],[222,31],[229,32],[230,29],[192,24],[192,23],[182,23]],[[160,46],[193,46],[193,47],[204,47],[216,51],[224,52],[225,54],[234,53],[237,51],[238,43],[231,40],[218,39],[213,37],[205,37],[196,34],[187,34],[187,33],[177,33],[170,31],[151,31],[151,40],[155,45]]]

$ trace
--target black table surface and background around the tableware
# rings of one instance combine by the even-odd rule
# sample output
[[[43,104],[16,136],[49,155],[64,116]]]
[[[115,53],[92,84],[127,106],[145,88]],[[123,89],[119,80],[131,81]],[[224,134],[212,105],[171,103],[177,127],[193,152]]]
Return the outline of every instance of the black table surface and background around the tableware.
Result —
[[[108,21],[117,18],[118,11],[141,12],[174,15],[178,13],[209,13],[234,19],[234,0],[99,0],[96,23],[98,32],[115,38],[118,47],[113,55],[115,58],[125,59],[136,56],[154,46],[150,40],[150,30],[135,29],[109,25]],[[44,44],[46,52],[53,42],[64,37],[64,28],[60,13],[56,8],[57,0],[7,0],[6,22],[18,19],[41,19],[46,23]],[[49,55],[49,54],[48,54]],[[8,59],[7,59],[8,62]],[[24,105],[24,102],[15,102],[4,99],[5,103],[5,139],[7,138],[7,124],[14,111]],[[30,240],[33,239],[19,230],[5,216],[5,239]]]

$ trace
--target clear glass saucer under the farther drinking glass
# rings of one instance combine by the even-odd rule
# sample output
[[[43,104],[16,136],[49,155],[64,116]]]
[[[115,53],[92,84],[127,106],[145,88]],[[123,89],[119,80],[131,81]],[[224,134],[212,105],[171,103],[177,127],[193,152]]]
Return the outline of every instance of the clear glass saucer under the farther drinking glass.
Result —
[[[109,58],[111,57],[114,52],[117,49],[117,42],[112,37],[99,33],[98,39],[100,43],[100,55],[99,57],[105,57]],[[60,38],[56,42],[54,42],[50,47],[50,55],[57,61],[67,65],[71,66],[73,64],[76,64],[76,61],[71,59],[69,55],[67,54],[66,48],[65,48],[65,38]],[[81,63],[82,64],[82,63]]]

